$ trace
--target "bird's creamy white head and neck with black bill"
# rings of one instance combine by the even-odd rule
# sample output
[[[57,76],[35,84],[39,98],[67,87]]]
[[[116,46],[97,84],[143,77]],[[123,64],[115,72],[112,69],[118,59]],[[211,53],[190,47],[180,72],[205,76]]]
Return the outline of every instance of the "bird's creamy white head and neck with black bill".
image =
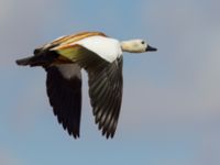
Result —
[[[157,48],[150,46],[143,40],[130,40],[121,42],[121,48],[123,52],[130,53],[144,53],[144,52],[154,52]]]

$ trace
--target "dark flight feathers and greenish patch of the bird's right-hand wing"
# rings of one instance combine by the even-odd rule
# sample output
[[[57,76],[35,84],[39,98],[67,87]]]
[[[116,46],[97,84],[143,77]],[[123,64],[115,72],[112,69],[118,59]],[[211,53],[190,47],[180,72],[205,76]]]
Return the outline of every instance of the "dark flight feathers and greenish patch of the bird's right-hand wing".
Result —
[[[54,51],[87,70],[96,123],[103,135],[113,138],[122,101],[122,56],[109,63],[77,44],[55,47]]]

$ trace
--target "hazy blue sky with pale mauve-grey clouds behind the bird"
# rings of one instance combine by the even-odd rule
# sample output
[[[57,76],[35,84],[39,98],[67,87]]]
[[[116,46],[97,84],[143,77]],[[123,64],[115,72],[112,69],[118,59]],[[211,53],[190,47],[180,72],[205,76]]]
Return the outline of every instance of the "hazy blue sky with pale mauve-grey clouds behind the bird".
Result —
[[[0,164],[220,164],[218,0],[0,0]],[[157,53],[124,54],[117,134],[94,123],[84,74],[81,138],[53,117],[34,47],[78,31],[145,38]]]

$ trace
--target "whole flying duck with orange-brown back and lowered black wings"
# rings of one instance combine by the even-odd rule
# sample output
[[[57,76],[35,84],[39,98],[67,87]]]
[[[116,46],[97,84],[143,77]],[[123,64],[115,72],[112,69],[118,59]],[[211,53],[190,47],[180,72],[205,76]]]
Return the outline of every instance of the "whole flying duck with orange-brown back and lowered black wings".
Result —
[[[113,138],[122,101],[122,52],[154,52],[143,40],[118,41],[101,32],[81,32],[58,37],[18,59],[22,66],[46,72],[46,91],[54,114],[69,135],[80,134],[81,69],[88,74],[89,97],[102,135]]]

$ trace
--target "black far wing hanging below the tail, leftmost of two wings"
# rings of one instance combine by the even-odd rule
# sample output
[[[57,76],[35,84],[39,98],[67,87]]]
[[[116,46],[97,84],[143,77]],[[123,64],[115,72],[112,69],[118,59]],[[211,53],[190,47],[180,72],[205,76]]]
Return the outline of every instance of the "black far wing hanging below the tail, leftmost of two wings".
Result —
[[[65,68],[63,68],[65,67]],[[65,77],[65,70],[73,70]],[[66,70],[66,72],[69,72]],[[50,103],[58,122],[75,139],[79,138],[81,116],[81,73],[77,64],[47,67],[46,87]]]

